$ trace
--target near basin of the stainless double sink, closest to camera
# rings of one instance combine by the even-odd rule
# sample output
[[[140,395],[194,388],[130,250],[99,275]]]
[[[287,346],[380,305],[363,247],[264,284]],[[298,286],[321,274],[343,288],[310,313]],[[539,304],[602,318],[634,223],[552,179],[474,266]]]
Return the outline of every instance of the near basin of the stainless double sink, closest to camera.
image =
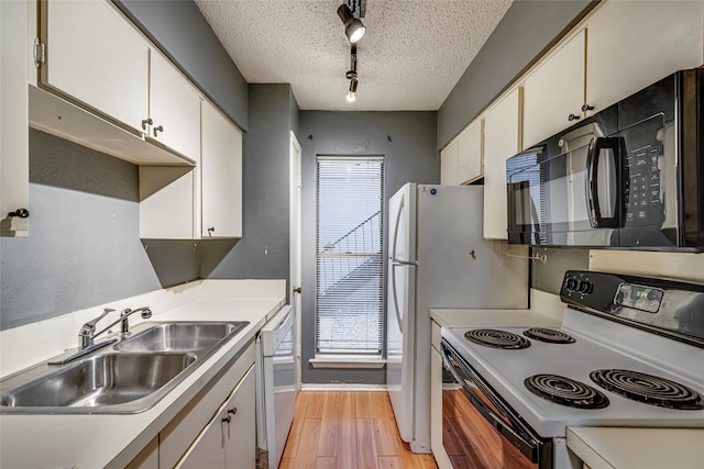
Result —
[[[108,354],[87,358],[2,397],[12,407],[98,407],[123,404],[163,388],[196,354]]]

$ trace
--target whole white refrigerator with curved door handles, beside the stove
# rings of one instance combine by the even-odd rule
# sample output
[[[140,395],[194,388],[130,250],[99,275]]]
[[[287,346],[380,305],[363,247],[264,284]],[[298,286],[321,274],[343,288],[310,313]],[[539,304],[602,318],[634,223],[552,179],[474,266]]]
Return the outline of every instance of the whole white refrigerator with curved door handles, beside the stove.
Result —
[[[386,386],[414,453],[430,453],[429,309],[528,308],[528,260],[482,237],[483,197],[407,183],[388,202]]]

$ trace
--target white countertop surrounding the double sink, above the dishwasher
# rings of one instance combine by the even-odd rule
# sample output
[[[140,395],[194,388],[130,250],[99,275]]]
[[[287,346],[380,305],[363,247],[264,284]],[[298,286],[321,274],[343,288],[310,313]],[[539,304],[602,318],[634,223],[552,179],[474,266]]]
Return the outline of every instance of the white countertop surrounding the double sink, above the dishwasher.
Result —
[[[284,304],[276,298],[197,299],[150,321],[249,321],[152,409],[128,415],[0,415],[0,467],[124,468]]]

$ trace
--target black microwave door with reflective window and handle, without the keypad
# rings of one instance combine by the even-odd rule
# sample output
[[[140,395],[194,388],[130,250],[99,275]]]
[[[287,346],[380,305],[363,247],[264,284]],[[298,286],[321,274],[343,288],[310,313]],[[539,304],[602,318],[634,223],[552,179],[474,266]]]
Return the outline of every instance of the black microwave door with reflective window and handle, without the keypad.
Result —
[[[618,245],[624,141],[594,136],[581,143],[558,155],[537,147],[507,160],[509,243]]]

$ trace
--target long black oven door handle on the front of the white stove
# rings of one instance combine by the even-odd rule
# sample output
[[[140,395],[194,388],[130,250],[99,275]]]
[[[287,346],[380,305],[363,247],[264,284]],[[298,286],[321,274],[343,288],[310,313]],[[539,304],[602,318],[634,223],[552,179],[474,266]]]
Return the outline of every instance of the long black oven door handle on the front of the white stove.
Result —
[[[492,410],[482,399],[472,389],[466,384],[464,379],[457,372],[454,366],[450,362],[450,358],[447,355],[444,347],[440,347],[440,355],[442,357],[442,362],[446,369],[452,375],[452,378],[464,389],[468,393],[470,400],[472,401],[472,405],[482,414],[482,416],[498,431],[498,433],[504,436],[514,447],[516,447],[521,454],[524,454],[527,458],[530,459],[531,462],[539,461],[539,442],[536,442],[532,438],[529,438],[522,434],[522,432],[517,432],[512,428],[504,422],[504,420],[496,414],[494,410]],[[477,381],[476,377],[469,377],[472,381],[482,389],[483,392],[486,393],[486,398],[492,401],[496,407],[504,410],[504,405],[493,398],[491,392],[485,391],[485,387]],[[505,410],[504,410],[505,411]],[[507,413],[508,414],[508,413]],[[510,417],[508,417],[510,420]],[[519,423],[514,422],[517,426],[521,426]]]

